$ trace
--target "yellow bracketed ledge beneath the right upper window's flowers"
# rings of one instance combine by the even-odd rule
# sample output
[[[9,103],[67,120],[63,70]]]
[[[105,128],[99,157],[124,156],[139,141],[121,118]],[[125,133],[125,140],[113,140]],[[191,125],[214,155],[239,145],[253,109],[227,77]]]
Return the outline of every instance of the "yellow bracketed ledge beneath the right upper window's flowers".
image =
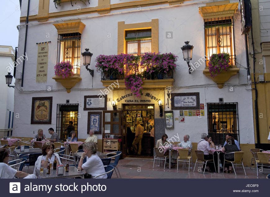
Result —
[[[228,81],[232,76],[236,75],[239,72],[240,68],[236,68],[235,66],[229,68],[228,71],[224,71],[219,73],[216,77],[211,77],[208,67],[206,67],[203,71],[203,74],[212,79],[214,82],[217,83],[218,88],[223,88],[224,83]]]

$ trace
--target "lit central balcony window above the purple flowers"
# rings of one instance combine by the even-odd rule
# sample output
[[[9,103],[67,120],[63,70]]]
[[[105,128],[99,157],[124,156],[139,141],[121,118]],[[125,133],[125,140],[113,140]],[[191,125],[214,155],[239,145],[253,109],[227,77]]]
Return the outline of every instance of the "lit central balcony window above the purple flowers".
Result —
[[[144,55],[145,53],[151,53],[151,29],[126,31],[126,54],[129,55]],[[139,73],[143,72],[143,69],[139,66]],[[130,71],[128,74],[134,73]]]

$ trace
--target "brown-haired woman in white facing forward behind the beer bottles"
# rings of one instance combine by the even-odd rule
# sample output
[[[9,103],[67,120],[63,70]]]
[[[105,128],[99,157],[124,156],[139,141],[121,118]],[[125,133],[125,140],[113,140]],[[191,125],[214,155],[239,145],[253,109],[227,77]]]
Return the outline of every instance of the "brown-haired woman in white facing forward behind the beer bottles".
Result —
[[[40,166],[47,168],[48,164],[53,164],[56,159],[57,165],[62,165],[60,157],[57,153],[53,153],[54,143],[46,142],[42,146],[42,155],[40,155],[35,163],[34,174]]]

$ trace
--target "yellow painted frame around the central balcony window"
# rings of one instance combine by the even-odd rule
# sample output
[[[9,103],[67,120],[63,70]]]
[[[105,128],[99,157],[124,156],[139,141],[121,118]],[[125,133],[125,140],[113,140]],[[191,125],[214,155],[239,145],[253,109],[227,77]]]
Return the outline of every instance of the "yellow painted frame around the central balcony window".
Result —
[[[159,22],[158,19],[152,19],[151,22],[133,24],[118,22],[117,54],[126,53],[125,31],[138,29],[151,29],[151,52],[159,52]]]

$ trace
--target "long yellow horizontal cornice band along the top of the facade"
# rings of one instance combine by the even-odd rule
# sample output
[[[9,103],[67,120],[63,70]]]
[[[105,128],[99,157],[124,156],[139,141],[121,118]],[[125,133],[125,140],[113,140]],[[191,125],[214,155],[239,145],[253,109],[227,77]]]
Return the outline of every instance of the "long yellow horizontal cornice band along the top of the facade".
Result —
[[[69,0],[63,0],[62,2],[65,2],[65,1],[69,1]],[[94,12],[104,14],[102,12],[109,13],[111,10],[121,10],[121,9],[128,9],[128,8],[134,8],[134,7],[139,8],[139,7],[162,5],[162,4],[168,4],[168,3],[170,5],[175,5],[175,4],[181,4],[183,2],[183,0],[143,0],[143,1],[123,2],[123,3],[108,5],[107,4],[108,0],[99,0],[99,1],[106,1],[106,2],[104,2],[104,4],[99,2],[97,7],[82,8],[79,11],[75,9],[75,10],[69,10],[69,11],[52,12],[52,13],[48,13],[48,16],[43,16],[40,14],[31,15],[29,16],[28,20],[29,21],[34,21],[34,20],[46,21],[47,19],[50,19],[50,18],[83,15],[83,14],[89,14],[89,13],[94,13]],[[191,0],[185,0],[185,1],[187,2]],[[20,17],[20,22],[25,22],[25,21],[26,21],[26,16]]]

